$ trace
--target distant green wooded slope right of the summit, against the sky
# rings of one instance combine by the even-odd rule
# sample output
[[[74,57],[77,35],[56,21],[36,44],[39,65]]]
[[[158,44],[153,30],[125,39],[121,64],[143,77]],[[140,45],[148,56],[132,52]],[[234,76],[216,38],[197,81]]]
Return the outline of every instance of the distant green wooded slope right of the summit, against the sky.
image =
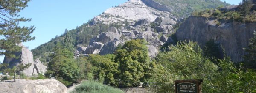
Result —
[[[218,6],[227,6],[220,0],[154,0],[163,5],[174,8],[171,13],[177,17],[186,17],[194,11],[202,11],[207,8],[217,8]]]

